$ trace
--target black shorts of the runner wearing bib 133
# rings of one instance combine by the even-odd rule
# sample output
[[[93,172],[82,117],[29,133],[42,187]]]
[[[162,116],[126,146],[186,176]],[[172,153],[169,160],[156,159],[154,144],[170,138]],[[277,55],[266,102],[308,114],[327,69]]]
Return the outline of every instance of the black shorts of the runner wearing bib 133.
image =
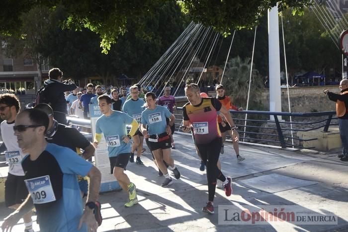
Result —
[[[24,182],[24,176],[16,176],[8,173],[5,181],[5,205],[6,207],[22,204],[28,197],[28,189]]]

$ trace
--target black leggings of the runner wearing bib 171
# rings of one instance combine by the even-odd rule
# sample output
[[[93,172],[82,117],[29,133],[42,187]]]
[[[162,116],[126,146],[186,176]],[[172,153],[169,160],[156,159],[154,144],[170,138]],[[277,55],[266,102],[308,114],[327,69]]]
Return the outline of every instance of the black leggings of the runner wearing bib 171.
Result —
[[[222,174],[222,172],[217,167],[217,161],[219,160],[221,146],[221,137],[214,139],[208,144],[197,144],[201,158],[204,164],[207,166],[209,201],[214,200],[216,179],[219,179],[223,182],[226,180],[224,174]]]

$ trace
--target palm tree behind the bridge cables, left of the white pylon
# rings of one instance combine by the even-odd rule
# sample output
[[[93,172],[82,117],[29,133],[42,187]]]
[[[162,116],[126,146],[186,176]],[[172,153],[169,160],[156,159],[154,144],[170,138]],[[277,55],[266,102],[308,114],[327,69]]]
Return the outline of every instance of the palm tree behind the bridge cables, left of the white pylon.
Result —
[[[225,75],[222,79],[227,94],[234,100],[234,104],[238,106],[246,106],[248,100],[248,89],[251,62],[250,58],[245,58],[244,61],[239,57],[230,59],[226,65]],[[254,67],[254,65],[253,65]],[[253,68],[252,73],[252,86],[250,91],[250,103],[251,100],[257,100],[257,95],[262,88],[262,78],[259,77],[258,71]]]

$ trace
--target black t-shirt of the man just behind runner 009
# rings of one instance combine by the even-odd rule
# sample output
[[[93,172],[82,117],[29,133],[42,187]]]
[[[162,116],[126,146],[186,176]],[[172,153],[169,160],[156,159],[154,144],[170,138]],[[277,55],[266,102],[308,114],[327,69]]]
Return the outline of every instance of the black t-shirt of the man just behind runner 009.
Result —
[[[48,143],[57,144],[62,147],[70,148],[77,152],[77,148],[86,149],[90,143],[77,129],[58,124],[57,132],[50,138],[46,138]]]

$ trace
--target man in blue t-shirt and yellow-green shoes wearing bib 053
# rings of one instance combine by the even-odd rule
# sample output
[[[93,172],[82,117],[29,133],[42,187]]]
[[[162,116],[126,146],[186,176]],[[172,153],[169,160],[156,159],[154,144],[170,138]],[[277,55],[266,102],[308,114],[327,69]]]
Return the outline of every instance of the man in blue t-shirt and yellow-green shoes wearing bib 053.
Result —
[[[101,133],[104,134],[109,152],[111,174],[114,174],[123,190],[128,191],[129,201],[124,204],[125,207],[131,207],[138,203],[135,184],[130,182],[128,176],[124,173],[130,155],[129,141],[139,124],[135,119],[126,113],[111,110],[111,98],[106,95],[98,97],[98,104],[101,113],[95,123],[94,147],[98,146],[101,139]],[[127,125],[132,128],[127,135]]]

